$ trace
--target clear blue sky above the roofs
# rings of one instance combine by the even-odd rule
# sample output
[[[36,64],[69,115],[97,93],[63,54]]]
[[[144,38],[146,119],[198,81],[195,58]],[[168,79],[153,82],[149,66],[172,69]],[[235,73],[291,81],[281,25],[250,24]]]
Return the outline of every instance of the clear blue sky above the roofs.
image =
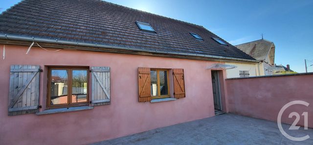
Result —
[[[0,11],[20,0],[1,0]],[[199,24],[237,45],[264,39],[276,46],[275,63],[305,72],[313,65],[313,0],[107,0]],[[308,68],[313,72],[313,66]]]

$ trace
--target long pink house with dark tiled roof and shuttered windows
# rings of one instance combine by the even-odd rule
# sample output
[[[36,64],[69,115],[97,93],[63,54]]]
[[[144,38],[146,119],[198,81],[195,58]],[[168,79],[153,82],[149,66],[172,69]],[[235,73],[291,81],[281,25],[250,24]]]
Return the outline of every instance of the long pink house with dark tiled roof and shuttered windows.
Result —
[[[101,0],[22,0],[0,22],[1,145],[90,144],[212,117],[228,111],[227,64],[274,61],[273,43],[256,60],[258,43],[251,57],[200,25]]]

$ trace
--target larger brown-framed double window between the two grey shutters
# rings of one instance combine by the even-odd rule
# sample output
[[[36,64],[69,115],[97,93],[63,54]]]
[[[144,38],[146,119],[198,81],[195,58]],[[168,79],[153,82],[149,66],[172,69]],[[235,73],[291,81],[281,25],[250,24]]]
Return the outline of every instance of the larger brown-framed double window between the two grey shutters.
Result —
[[[89,105],[89,67],[48,67],[47,107]]]

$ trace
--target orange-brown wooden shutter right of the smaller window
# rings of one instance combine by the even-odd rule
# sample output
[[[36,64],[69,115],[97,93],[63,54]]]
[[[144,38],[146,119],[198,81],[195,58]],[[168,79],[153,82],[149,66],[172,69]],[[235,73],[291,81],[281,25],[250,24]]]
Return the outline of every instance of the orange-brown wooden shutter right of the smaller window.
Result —
[[[185,97],[185,82],[184,82],[184,70],[173,69],[173,81],[174,81],[174,97]]]

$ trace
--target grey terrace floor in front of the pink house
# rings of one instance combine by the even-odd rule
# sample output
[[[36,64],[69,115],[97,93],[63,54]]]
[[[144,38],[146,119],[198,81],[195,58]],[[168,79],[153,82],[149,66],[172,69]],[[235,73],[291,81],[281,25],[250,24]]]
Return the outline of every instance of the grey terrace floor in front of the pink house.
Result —
[[[234,114],[180,123],[116,138],[93,145],[313,145],[313,129],[284,130],[294,137],[311,138],[294,142],[284,137],[276,122]]]

